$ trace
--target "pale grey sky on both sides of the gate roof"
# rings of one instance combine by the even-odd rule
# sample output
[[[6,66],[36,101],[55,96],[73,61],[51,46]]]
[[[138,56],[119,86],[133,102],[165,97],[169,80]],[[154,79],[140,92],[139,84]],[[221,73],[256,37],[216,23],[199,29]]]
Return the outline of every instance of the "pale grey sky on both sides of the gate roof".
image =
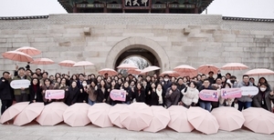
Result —
[[[0,4],[0,16],[67,13],[58,0],[0,0]],[[214,0],[207,14],[274,19],[274,0]]]

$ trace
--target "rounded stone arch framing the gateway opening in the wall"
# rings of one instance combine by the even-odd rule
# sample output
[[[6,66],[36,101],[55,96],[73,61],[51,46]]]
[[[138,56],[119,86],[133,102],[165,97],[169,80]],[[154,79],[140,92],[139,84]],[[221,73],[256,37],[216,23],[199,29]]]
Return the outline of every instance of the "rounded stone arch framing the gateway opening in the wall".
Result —
[[[141,55],[152,65],[161,67],[161,71],[170,69],[169,58],[163,46],[144,37],[129,37],[114,45],[106,59],[106,67],[116,68],[121,61],[130,55]]]

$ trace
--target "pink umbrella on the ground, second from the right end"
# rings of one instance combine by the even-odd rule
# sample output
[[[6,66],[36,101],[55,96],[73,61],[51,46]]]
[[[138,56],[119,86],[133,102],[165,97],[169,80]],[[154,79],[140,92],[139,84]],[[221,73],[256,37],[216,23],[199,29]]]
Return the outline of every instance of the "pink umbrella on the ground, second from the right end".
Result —
[[[245,123],[244,115],[234,107],[217,107],[211,114],[216,117],[221,130],[234,131],[240,129]]]

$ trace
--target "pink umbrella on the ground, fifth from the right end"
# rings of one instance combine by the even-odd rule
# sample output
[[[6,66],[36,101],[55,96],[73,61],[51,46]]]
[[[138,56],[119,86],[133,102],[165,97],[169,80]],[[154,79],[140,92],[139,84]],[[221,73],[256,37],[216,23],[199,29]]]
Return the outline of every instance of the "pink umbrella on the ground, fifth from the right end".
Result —
[[[151,125],[143,129],[143,131],[155,133],[163,130],[166,127],[170,121],[170,115],[168,110],[163,108],[161,105],[153,105],[151,108],[153,109],[153,121]]]

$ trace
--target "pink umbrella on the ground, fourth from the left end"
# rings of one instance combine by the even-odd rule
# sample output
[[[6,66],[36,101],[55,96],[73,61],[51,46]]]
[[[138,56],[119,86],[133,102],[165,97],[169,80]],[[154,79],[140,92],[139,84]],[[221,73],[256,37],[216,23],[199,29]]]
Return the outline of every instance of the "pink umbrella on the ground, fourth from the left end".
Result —
[[[72,127],[90,124],[89,109],[90,105],[86,103],[76,103],[68,106],[63,114],[64,122]]]

